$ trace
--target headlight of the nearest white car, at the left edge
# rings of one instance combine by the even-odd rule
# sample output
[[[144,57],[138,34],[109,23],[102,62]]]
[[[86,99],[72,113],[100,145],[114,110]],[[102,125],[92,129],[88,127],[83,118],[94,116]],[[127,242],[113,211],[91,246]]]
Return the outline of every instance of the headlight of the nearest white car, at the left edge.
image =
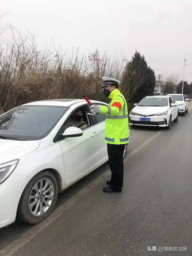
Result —
[[[18,163],[19,159],[0,164],[0,185],[11,175]]]

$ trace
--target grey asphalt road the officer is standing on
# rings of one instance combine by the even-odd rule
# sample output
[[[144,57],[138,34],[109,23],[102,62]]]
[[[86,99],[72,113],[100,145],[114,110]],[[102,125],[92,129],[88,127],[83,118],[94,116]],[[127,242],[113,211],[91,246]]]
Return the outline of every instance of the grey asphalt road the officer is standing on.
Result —
[[[0,229],[0,255],[192,255],[191,113],[170,130],[130,130],[122,193],[103,193],[105,164],[59,194],[43,223]]]

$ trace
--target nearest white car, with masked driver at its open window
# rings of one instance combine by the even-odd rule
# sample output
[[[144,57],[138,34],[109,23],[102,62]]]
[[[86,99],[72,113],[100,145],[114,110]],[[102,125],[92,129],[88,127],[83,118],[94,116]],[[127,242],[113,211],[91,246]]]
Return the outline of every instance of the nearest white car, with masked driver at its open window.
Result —
[[[68,127],[80,109],[88,125],[83,131]],[[85,100],[72,99],[32,102],[0,116],[0,227],[16,217],[29,224],[44,220],[58,192],[108,161],[105,118],[90,115]],[[126,151],[127,144],[124,157]]]

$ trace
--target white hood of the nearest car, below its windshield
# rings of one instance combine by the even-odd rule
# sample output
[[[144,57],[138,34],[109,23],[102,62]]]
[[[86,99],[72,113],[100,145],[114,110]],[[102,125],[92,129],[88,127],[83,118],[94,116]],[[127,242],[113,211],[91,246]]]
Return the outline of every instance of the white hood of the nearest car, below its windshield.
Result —
[[[21,158],[38,149],[40,140],[4,140],[0,139],[0,164]]]

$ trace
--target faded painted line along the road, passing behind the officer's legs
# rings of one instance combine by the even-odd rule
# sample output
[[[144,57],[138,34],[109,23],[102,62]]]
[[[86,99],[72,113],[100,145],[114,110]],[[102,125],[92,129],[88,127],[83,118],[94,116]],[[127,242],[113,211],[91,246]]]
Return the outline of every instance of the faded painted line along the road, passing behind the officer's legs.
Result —
[[[157,132],[155,135],[150,137],[148,140],[143,142],[140,146],[138,146],[136,149],[134,149],[132,152],[130,152],[124,159],[124,162],[128,161],[129,158],[131,158],[134,154],[136,154],[140,149],[142,149],[144,146],[146,146],[149,142],[151,142],[153,139],[155,139],[159,134],[161,134],[163,131]],[[82,188],[79,192],[77,192],[73,197],[68,199],[65,203],[63,203],[61,206],[59,206],[57,209],[55,209],[48,218],[46,218],[44,221],[42,221],[39,224],[36,224],[35,226],[32,226],[29,230],[27,230],[25,233],[23,233],[20,237],[18,237],[16,240],[11,242],[9,245],[4,247],[0,251],[1,256],[11,256],[13,253],[19,250],[19,248],[23,247],[27,242],[29,242],[31,239],[33,239],[35,236],[37,236],[42,230],[44,230],[49,224],[51,224],[56,218],[58,218],[60,215],[62,215],[67,209],[69,209],[76,201],[78,201],[81,197],[83,197],[85,194],[87,194],[92,188],[94,188],[96,185],[98,185],[104,178],[109,176],[111,174],[110,169],[108,169],[105,173],[101,174],[96,180],[90,182],[85,188]]]

